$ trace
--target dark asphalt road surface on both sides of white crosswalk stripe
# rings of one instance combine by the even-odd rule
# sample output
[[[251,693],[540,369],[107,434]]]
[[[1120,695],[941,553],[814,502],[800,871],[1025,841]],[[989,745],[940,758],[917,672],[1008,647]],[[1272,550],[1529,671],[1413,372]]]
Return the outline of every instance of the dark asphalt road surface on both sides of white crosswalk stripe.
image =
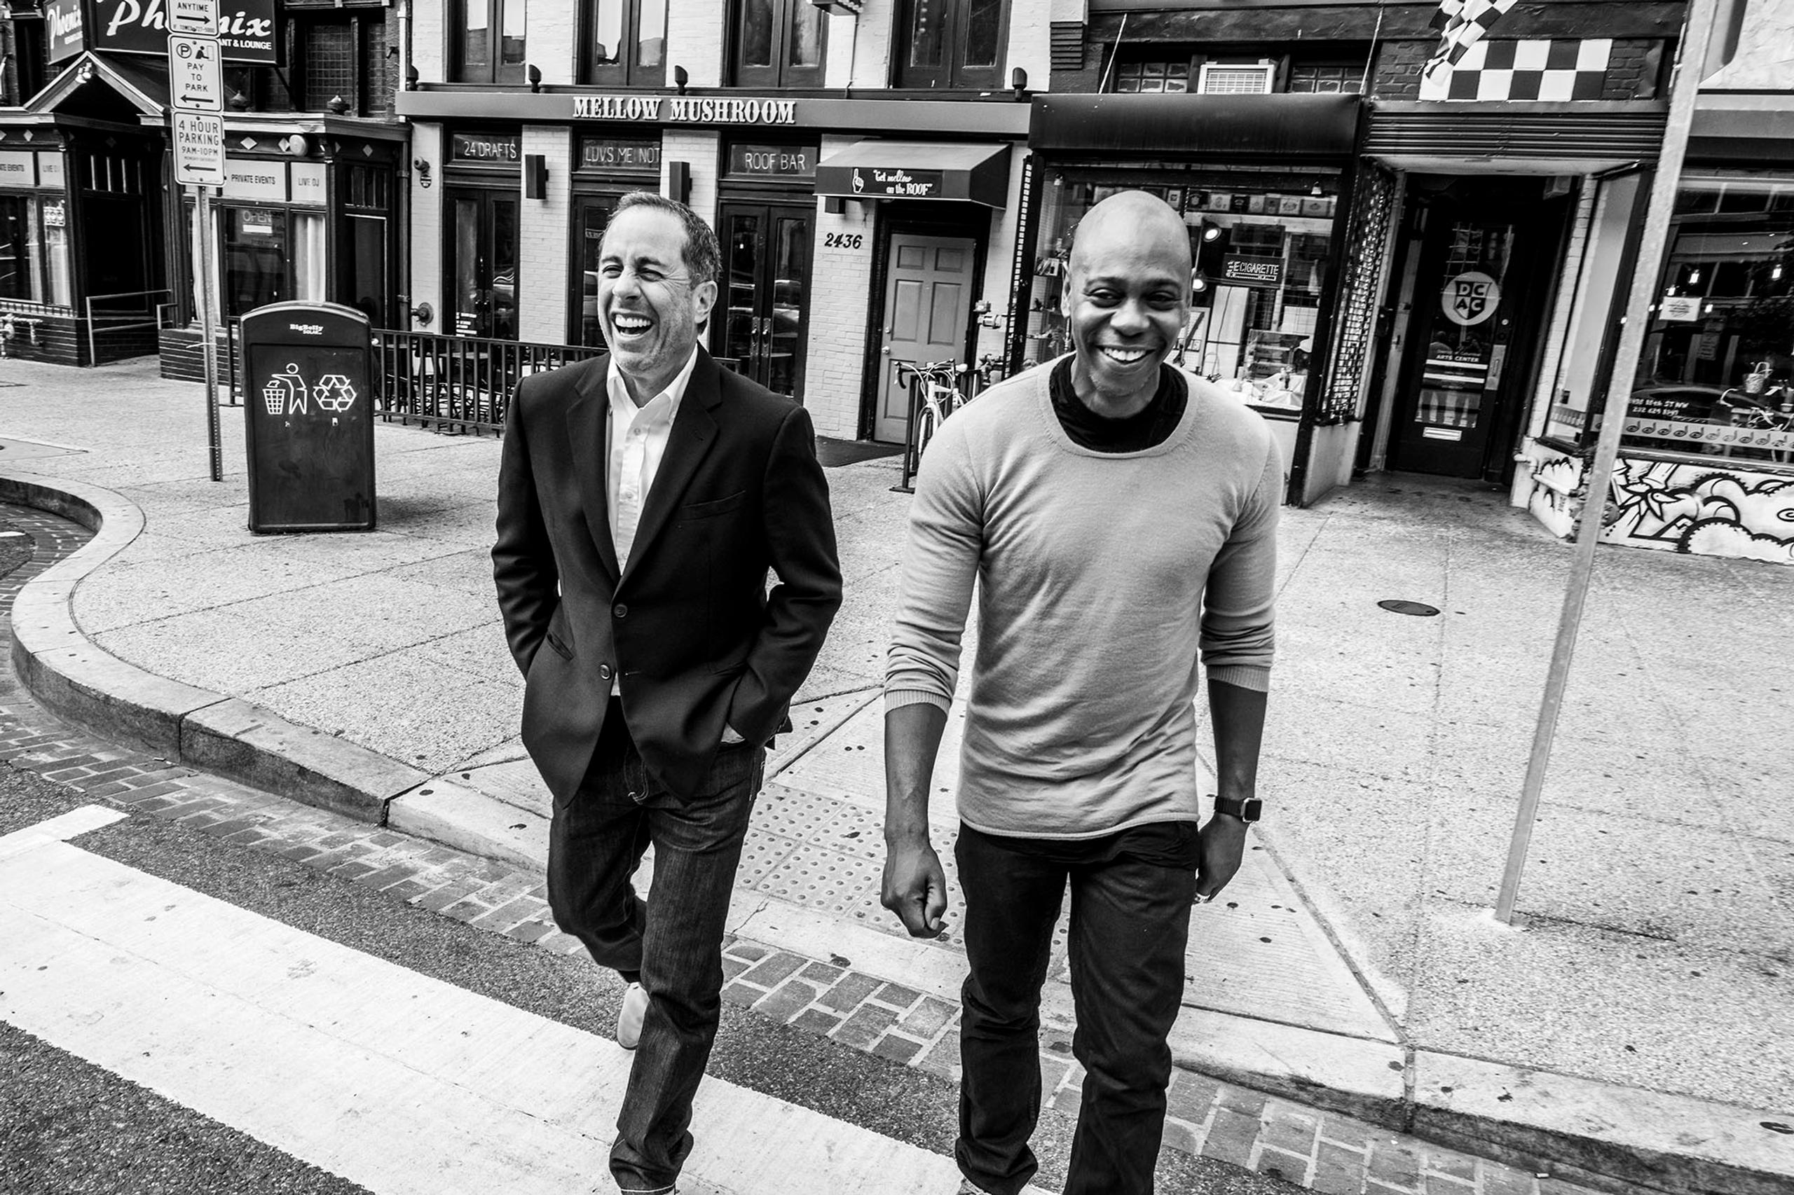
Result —
[[[11,764],[0,766],[0,836],[84,804],[72,789]],[[160,818],[126,816],[81,834],[72,845],[558,1025],[603,1037],[612,1032],[614,985],[599,981],[588,960],[535,949]],[[7,1005],[0,990],[0,1008]],[[5,1019],[11,1017],[0,1021]],[[0,1068],[7,1075],[0,1086],[0,1121],[7,1125],[0,1190],[9,1193],[235,1195],[273,1190],[334,1195],[368,1190],[14,1025],[0,1023]],[[951,1082],[753,1012],[725,1005],[710,1075],[933,1154],[951,1150],[956,1102]],[[221,1084],[244,1080],[242,1075],[217,1078]],[[572,1084],[578,1077],[567,1080]],[[280,1084],[282,1075],[266,1073],[249,1082]],[[703,1125],[698,1129],[701,1134]],[[608,1125],[592,1125],[592,1132],[606,1136]],[[1035,1141],[1044,1164],[1037,1179],[1041,1188],[1062,1186],[1069,1139],[1071,1120],[1048,1111]],[[608,1188],[599,1184],[597,1190]],[[1270,1195],[1299,1188],[1166,1150],[1159,1190],[1168,1195]]]

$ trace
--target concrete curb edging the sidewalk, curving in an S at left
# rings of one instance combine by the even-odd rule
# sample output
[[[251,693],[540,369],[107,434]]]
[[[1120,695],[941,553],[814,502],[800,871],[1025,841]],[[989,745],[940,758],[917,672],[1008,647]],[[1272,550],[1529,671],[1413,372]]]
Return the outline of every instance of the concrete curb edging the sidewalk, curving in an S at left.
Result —
[[[13,666],[32,696],[56,714],[163,759],[303,804],[483,858],[540,867],[536,852],[544,849],[545,824],[524,816],[526,811],[240,698],[154,676],[90,642],[75,624],[70,599],[84,576],[142,531],[144,517],[135,504],[86,483],[57,479],[52,488],[7,475],[0,475],[0,501],[61,515],[95,533],[90,544],[25,583],[13,608]],[[795,746],[814,746],[843,720],[818,727]],[[802,754],[791,750],[780,770]],[[843,931],[822,913],[759,895],[736,910],[730,922],[732,931],[755,942],[822,958]],[[956,996],[954,964],[944,951],[859,926],[845,929],[852,931],[856,971],[938,989],[947,999]],[[1069,990],[1048,992],[1044,1003],[1044,1012],[1069,1014]],[[1794,1130],[1778,1112],[1202,1008],[1184,1008],[1179,1016],[1171,1050],[1184,1069],[1471,1154],[1493,1154],[1509,1164],[1548,1166],[1598,1190],[1670,1195],[1794,1190]]]

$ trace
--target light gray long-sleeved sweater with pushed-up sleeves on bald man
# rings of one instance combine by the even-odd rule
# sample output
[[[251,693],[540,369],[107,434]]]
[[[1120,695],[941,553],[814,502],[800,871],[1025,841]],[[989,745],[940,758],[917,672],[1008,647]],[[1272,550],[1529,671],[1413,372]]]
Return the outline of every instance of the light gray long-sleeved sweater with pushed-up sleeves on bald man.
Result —
[[[976,578],[965,824],[1093,838],[1197,820],[1198,655],[1211,682],[1270,687],[1283,467],[1265,422],[1197,377],[1164,443],[1082,449],[1053,364],[956,411],[922,458],[884,705],[949,707]]]

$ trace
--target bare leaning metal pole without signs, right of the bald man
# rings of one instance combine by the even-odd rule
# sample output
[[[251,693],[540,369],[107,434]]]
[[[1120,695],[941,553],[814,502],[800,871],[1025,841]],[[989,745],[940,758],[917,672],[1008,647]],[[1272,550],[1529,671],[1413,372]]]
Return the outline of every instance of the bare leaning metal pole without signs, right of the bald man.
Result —
[[[1552,667],[1545,678],[1545,700],[1539,703],[1539,725],[1532,736],[1532,759],[1527,761],[1527,781],[1520,791],[1520,813],[1514,818],[1514,838],[1507,849],[1507,870],[1502,876],[1502,894],[1494,915],[1505,924],[1514,922],[1514,899],[1520,894],[1520,874],[1527,867],[1527,847],[1532,842],[1532,824],[1539,813],[1539,793],[1545,789],[1545,772],[1552,757],[1552,739],[1557,734],[1557,714],[1563,711],[1564,685],[1570,682],[1570,659],[1575,653],[1577,628],[1582,623],[1582,605],[1588,599],[1589,574],[1595,569],[1595,547],[1600,540],[1602,515],[1607,510],[1607,490],[1613,463],[1620,456],[1620,427],[1638,373],[1638,355],[1645,346],[1645,328],[1650,323],[1650,303],[1658,292],[1658,269],[1663,264],[1665,239],[1670,230],[1670,212],[1676,188],[1681,183],[1683,158],[1688,153],[1688,131],[1694,126],[1695,97],[1701,90],[1701,68],[1706,63],[1706,45],[1713,32],[1713,14],[1719,0],[1690,0],[1688,20],[1683,25],[1676,52],[1676,74],[1670,79],[1670,113],[1663,127],[1663,153],[1658,158],[1656,178],[1650,179],[1650,205],[1645,210],[1645,230],[1633,266],[1633,287],[1625,301],[1625,321],[1620,328],[1620,346],[1607,379],[1607,406],[1602,414],[1600,440],[1595,461],[1588,470],[1588,497],[1582,501],[1577,526],[1575,554],[1570,562],[1570,587],[1564,590],[1563,614],[1557,619],[1557,644],[1552,648]]]

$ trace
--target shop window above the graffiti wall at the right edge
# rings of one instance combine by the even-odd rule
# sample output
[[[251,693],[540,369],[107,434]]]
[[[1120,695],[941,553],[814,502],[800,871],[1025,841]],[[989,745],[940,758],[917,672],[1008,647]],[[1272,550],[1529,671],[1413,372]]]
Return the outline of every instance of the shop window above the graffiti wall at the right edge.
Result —
[[[1794,463],[1794,178],[1685,178],[1625,440]]]

